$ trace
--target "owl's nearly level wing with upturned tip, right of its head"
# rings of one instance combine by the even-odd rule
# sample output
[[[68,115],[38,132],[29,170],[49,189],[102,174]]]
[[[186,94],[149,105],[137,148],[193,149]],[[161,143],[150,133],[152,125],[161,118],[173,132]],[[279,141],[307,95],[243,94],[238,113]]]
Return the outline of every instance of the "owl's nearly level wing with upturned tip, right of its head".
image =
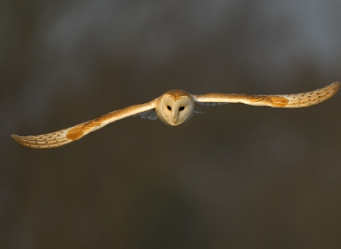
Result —
[[[246,95],[246,94],[224,94],[207,93],[204,95],[192,95],[195,102],[207,103],[244,103],[247,105],[259,105],[280,108],[301,108],[316,105],[328,100],[335,95],[340,88],[340,83],[335,82],[318,90],[288,94],[288,95]]]

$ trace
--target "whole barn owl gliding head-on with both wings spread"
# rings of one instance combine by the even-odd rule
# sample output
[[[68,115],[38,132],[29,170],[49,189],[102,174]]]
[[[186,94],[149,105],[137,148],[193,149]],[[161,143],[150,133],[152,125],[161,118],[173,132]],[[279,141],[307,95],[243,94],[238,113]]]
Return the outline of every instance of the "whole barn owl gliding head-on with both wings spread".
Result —
[[[220,105],[224,103],[244,103],[247,105],[269,106],[279,108],[301,108],[316,105],[328,100],[340,87],[339,82],[327,85],[325,88],[289,95],[246,95],[246,94],[224,94],[207,93],[204,95],[193,95],[183,90],[169,90],[160,97],[140,105],[131,105],[121,110],[109,112],[97,119],[77,124],[75,126],[61,129],[58,132],[42,134],[38,136],[11,137],[23,146],[34,149],[46,149],[60,147],[69,144],[90,132],[104,127],[105,125],[139,115],[149,120],[159,119],[162,122],[177,127],[184,124],[193,113],[195,103],[202,105]]]

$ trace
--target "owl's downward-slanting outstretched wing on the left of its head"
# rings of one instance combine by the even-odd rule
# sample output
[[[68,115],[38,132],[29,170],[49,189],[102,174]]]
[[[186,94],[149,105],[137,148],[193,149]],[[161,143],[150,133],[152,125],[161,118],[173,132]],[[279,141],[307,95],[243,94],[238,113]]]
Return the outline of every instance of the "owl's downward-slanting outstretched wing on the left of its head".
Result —
[[[65,144],[69,144],[81,137],[84,137],[90,132],[94,132],[97,129],[104,127],[105,125],[115,122],[117,120],[124,119],[132,115],[137,115],[141,112],[146,112],[155,108],[155,101],[147,102],[141,105],[131,105],[121,110],[109,112],[106,115],[102,115],[97,119],[77,124],[75,126],[61,129],[58,132],[51,132],[48,134],[42,134],[37,136],[18,136],[13,134],[11,137],[23,146],[34,149],[48,149],[60,147]]]

